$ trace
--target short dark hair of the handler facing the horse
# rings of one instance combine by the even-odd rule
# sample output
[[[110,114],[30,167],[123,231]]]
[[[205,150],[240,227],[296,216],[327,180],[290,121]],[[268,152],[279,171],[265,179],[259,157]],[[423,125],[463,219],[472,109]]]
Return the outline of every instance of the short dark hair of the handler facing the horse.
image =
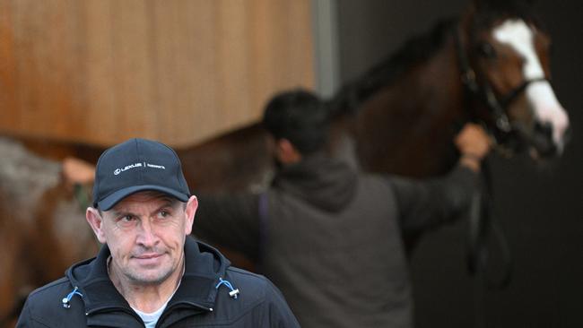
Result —
[[[296,89],[276,94],[266,107],[262,124],[275,139],[287,139],[302,154],[324,148],[328,111],[314,93]]]

